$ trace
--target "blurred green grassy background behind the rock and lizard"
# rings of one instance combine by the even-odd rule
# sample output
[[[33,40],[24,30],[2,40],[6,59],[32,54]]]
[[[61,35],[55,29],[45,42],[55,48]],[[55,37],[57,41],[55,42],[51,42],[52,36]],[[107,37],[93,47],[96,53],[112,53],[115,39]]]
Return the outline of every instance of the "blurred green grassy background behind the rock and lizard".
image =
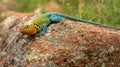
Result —
[[[2,2],[3,0],[0,0]],[[4,0],[14,2],[14,11],[30,13],[37,8],[79,17],[120,28],[120,0]],[[56,6],[56,7],[55,7]],[[55,11],[56,11],[55,10]],[[54,10],[53,10],[54,11]]]

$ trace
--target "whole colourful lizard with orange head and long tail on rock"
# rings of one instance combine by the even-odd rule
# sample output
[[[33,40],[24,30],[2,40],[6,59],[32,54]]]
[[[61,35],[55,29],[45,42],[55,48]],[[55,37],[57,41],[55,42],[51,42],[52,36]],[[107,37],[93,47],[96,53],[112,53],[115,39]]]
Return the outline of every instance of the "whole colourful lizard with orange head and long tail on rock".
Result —
[[[19,30],[23,34],[27,34],[27,35],[37,34],[38,36],[40,36],[40,35],[45,34],[47,27],[50,23],[52,23],[52,22],[64,22],[65,19],[83,22],[83,23],[88,23],[88,24],[97,25],[97,26],[102,26],[105,28],[113,28],[113,29],[120,30],[120,28],[115,28],[112,26],[106,26],[106,25],[99,24],[96,22],[82,20],[82,19],[70,16],[70,15],[57,13],[57,12],[47,12],[45,14],[42,14],[39,17],[35,18],[30,25],[23,25],[20,27]]]

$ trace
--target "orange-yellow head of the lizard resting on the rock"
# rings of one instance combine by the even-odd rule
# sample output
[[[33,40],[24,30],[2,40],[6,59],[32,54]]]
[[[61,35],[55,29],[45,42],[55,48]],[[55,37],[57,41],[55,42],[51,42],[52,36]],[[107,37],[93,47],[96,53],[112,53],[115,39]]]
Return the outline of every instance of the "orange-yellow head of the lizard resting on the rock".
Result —
[[[23,25],[20,27],[20,32],[27,35],[33,35],[37,33],[37,29],[32,25]]]

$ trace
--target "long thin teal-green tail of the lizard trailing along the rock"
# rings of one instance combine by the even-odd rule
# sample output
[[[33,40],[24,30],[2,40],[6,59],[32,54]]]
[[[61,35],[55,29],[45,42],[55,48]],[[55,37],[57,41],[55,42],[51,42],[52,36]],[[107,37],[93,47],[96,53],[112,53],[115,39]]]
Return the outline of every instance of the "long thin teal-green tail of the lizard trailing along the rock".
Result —
[[[120,28],[115,28],[115,27],[112,27],[112,26],[107,26],[107,25],[103,25],[103,24],[96,23],[96,22],[91,22],[91,21],[87,21],[87,20],[82,20],[82,19],[80,19],[80,18],[76,18],[76,17],[73,17],[73,16],[61,14],[61,13],[50,12],[50,14],[58,15],[58,16],[64,17],[64,18],[69,19],[69,20],[74,20],[74,21],[78,21],[78,22],[84,22],[84,23],[88,23],[88,24],[93,24],[93,25],[105,27],[105,28],[112,28],[112,29],[120,30]]]

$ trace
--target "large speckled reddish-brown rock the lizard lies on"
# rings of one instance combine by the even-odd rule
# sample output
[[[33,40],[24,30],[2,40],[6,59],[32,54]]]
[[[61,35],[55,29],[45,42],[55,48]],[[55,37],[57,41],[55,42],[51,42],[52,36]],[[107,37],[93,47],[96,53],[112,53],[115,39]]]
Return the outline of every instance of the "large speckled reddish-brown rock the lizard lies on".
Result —
[[[0,23],[1,67],[120,67],[120,30],[66,20],[40,37],[20,35],[37,15],[13,15]]]

